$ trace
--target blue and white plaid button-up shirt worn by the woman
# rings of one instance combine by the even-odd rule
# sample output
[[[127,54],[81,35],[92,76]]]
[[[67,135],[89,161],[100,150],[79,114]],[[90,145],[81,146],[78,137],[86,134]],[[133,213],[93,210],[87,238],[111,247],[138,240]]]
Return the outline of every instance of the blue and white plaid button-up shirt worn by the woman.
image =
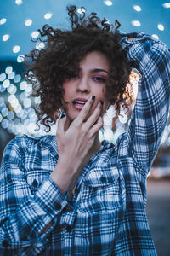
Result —
[[[131,125],[115,146],[102,143],[72,201],[49,177],[58,159],[54,136],[8,143],[0,172],[1,255],[156,255],[146,177],[167,122],[170,57],[165,44],[128,36],[137,38],[122,37],[127,58],[142,74]]]

